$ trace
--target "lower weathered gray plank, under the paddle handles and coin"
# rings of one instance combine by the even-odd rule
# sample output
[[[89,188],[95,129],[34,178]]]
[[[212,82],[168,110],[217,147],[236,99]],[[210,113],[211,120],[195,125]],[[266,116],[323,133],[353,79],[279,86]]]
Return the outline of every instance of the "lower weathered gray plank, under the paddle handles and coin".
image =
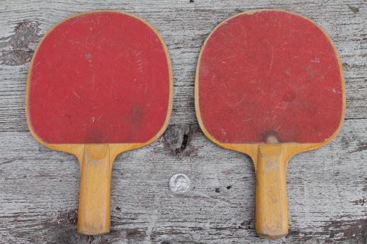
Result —
[[[367,170],[366,132],[361,128],[366,122],[347,121],[332,144],[290,161],[291,231],[275,243],[363,243]],[[113,232],[97,243],[266,243],[254,236],[249,158],[210,143],[196,125],[187,134],[181,152],[176,149],[182,145],[162,138],[118,157],[113,168]],[[0,233],[6,243],[18,238],[26,243],[70,243],[81,238],[75,233],[79,167],[74,157],[45,149],[28,132],[1,136],[7,141],[0,157]],[[184,196],[171,194],[167,187],[177,172],[193,182]]]

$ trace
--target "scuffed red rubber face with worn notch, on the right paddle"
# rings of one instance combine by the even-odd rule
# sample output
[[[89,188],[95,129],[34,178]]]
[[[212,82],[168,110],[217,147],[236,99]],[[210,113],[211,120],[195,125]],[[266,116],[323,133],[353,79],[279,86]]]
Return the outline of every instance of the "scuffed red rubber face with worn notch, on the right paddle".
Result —
[[[201,56],[201,118],[222,143],[317,143],[342,113],[337,54],[315,24],[283,11],[242,14],[220,25]]]

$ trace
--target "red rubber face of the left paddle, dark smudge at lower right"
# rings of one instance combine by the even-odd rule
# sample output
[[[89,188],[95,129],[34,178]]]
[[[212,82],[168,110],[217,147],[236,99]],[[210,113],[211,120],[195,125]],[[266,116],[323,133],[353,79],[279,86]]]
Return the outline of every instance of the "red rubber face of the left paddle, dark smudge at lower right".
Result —
[[[30,123],[52,144],[145,142],[164,124],[169,89],[164,47],[148,25],[87,13],[57,25],[38,48]]]

